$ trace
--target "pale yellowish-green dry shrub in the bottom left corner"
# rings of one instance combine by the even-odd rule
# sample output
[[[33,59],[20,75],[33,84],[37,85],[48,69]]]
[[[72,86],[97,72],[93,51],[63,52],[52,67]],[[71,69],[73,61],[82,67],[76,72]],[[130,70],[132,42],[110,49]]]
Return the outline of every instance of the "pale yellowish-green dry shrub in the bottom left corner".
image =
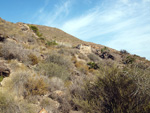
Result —
[[[0,113],[36,113],[36,107],[25,101],[17,101],[15,95],[0,91]]]

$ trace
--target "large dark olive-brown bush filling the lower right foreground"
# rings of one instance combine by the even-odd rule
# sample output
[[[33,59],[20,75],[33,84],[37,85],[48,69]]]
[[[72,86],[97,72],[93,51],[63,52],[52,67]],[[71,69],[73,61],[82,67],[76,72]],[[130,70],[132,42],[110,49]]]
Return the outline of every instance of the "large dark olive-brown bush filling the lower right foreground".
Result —
[[[95,82],[73,95],[78,109],[89,113],[149,113],[150,96],[139,93],[136,81],[117,67],[105,67]]]

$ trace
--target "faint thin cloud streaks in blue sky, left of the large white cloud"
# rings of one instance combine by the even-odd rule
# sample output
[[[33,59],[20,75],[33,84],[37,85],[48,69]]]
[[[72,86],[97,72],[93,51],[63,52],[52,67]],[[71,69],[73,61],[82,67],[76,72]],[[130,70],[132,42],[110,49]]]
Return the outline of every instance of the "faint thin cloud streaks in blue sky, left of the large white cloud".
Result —
[[[53,4],[54,5],[54,4]],[[57,26],[60,19],[62,20],[69,14],[69,7],[71,6],[70,0],[61,0],[58,4],[51,6],[51,1],[46,0],[45,5],[41,7],[32,17],[34,23],[41,23],[44,25]],[[49,8],[51,7],[51,8]]]

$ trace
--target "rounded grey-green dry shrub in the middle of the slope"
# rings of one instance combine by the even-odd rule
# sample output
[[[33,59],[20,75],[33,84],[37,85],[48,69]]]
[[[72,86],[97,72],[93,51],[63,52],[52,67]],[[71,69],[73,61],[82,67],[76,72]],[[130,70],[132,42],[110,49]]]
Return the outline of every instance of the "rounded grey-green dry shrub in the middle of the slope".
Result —
[[[70,76],[71,61],[65,56],[51,54],[42,63],[39,64],[38,70],[41,74],[50,77],[58,77],[66,80]]]

